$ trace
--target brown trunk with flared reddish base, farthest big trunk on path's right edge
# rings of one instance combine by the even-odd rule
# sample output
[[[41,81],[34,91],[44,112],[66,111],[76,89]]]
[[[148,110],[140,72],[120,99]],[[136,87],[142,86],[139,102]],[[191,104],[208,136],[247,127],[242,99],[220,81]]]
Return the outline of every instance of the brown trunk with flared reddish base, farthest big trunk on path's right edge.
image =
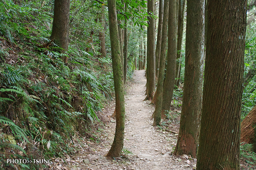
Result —
[[[154,0],[148,0],[148,32],[147,32],[147,97],[145,100],[152,100],[156,86],[156,56],[155,56],[155,19]]]

